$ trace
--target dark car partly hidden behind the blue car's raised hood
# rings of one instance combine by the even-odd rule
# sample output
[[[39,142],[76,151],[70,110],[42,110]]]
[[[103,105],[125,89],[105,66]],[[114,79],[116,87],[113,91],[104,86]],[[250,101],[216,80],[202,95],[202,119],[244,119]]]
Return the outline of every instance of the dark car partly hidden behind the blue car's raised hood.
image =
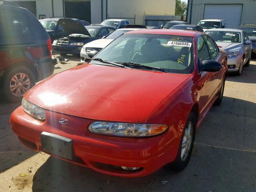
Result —
[[[58,20],[60,20],[61,18],[62,17],[50,17],[47,19],[40,20],[40,23],[48,32],[52,42],[56,39],[60,39],[67,36],[66,32],[64,31],[60,23],[58,23]],[[77,22],[80,22],[83,26],[90,25],[90,23],[87,21],[82,21],[76,18],[72,18],[72,19]]]

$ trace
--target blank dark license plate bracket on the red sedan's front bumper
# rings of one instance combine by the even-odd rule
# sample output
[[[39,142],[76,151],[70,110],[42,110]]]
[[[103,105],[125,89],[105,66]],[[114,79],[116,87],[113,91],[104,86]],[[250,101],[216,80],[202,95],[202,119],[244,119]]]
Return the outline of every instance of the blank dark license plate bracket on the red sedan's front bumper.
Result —
[[[74,158],[72,139],[48,132],[42,132],[40,137],[43,152],[69,160]]]

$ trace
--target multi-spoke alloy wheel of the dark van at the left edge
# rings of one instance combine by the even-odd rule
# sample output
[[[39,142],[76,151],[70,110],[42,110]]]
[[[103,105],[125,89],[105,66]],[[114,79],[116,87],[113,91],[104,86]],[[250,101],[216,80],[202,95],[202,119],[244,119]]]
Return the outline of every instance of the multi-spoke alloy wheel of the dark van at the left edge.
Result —
[[[30,89],[30,84],[28,75],[17,73],[10,81],[10,90],[16,97],[21,97]]]

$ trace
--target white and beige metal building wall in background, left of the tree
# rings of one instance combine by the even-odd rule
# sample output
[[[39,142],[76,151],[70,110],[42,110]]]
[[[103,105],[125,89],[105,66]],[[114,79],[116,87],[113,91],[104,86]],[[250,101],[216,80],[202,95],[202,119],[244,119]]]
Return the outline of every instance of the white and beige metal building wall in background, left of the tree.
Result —
[[[52,0],[15,0],[15,1],[36,1],[36,16],[46,15],[52,17]],[[83,1],[83,0],[69,0]],[[109,17],[114,18],[134,18],[136,24],[144,24],[145,14],[174,14],[175,0],[85,0],[91,2],[91,22],[98,24]],[[106,1],[108,10],[106,14]],[[103,2],[103,5],[101,4]],[[54,16],[63,16],[63,0],[53,0]],[[75,10],[74,10],[75,11]]]

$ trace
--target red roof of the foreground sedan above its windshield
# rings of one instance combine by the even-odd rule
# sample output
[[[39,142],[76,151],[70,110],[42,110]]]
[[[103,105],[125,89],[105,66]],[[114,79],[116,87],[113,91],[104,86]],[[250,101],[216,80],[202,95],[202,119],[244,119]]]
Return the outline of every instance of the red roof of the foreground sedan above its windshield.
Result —
[[[188,36],[194,37],[195,34],[200,33],[198,31],[188,31],[188,30],[176,30],[176,29],[142,29],[136,31],[130,31],[126,34],[159,34],[159,35],[176,35],[176,36]]]

